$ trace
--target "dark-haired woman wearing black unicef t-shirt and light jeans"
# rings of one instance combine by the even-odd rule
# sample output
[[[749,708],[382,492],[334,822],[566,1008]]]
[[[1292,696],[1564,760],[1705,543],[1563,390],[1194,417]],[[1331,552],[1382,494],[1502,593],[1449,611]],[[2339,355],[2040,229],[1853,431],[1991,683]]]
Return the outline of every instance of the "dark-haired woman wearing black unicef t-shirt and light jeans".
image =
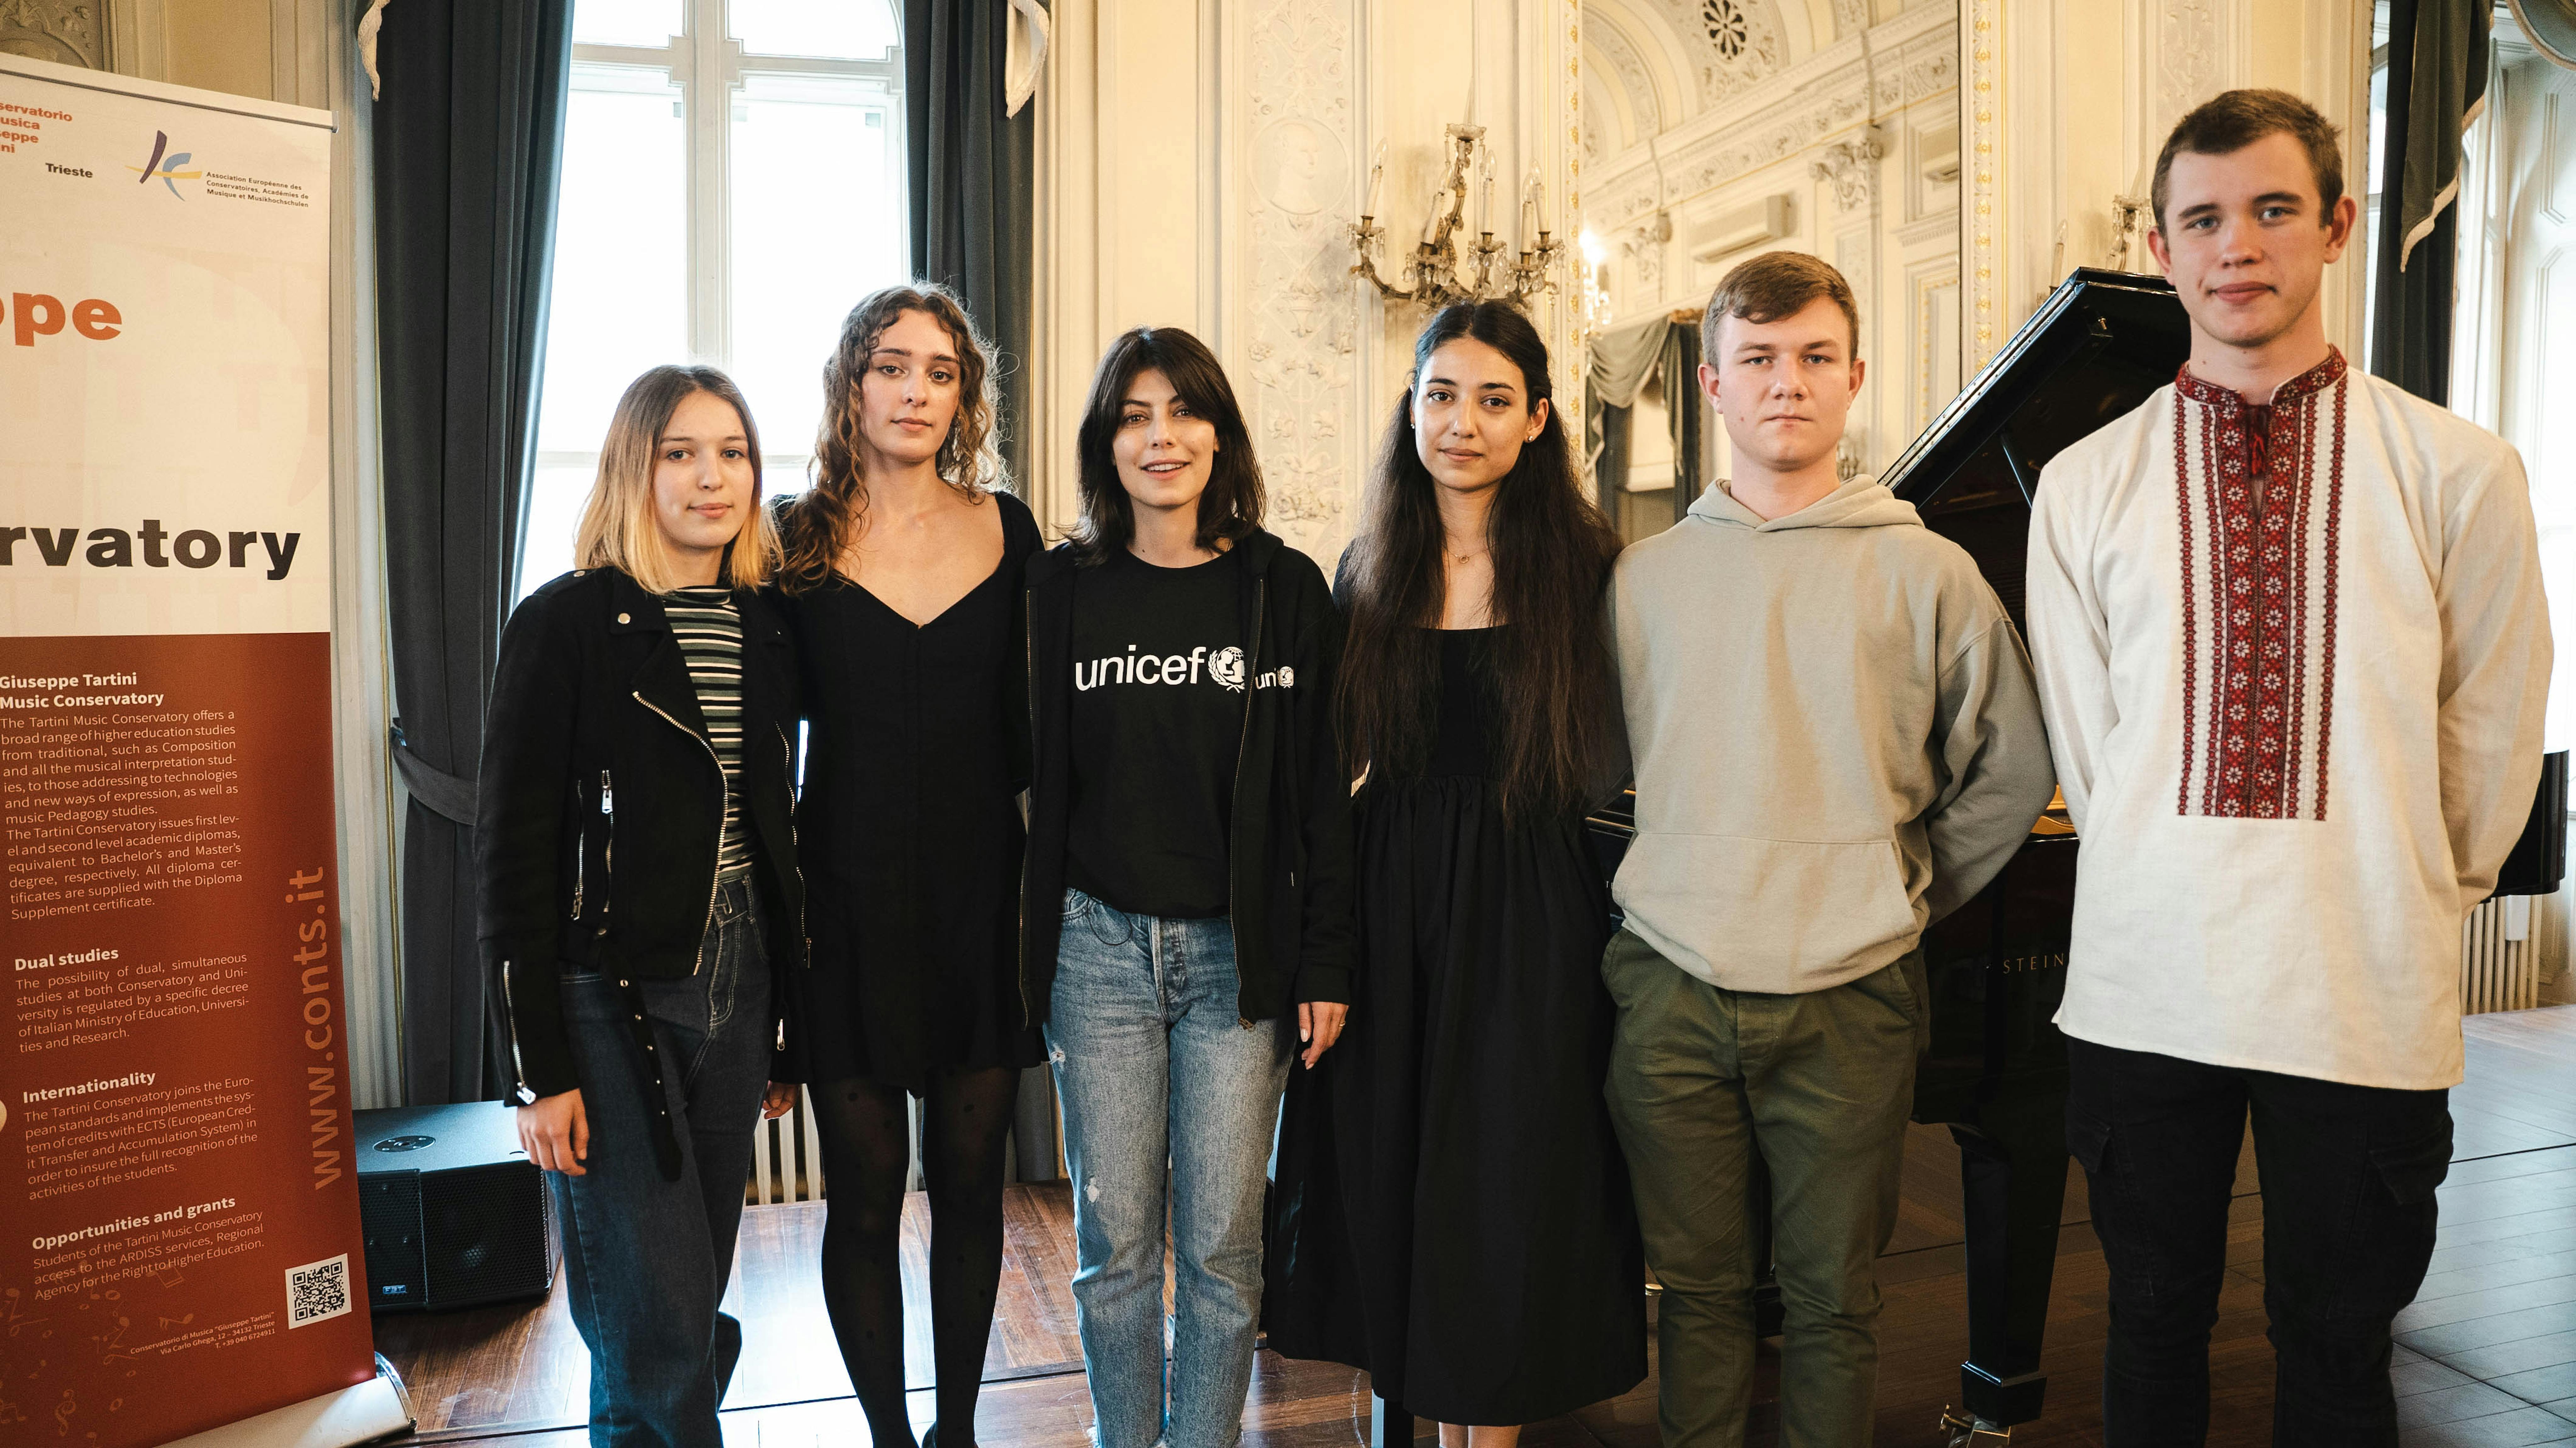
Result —
[[[1064,1095],[1097,1443],[1229,1448],[1280,1090],[1350,1000],[1342,618],[1260,528],[1252,435],[1198,338],[1110,343],[1077,453],[1082,523],[1028,564],[1020,969]]]

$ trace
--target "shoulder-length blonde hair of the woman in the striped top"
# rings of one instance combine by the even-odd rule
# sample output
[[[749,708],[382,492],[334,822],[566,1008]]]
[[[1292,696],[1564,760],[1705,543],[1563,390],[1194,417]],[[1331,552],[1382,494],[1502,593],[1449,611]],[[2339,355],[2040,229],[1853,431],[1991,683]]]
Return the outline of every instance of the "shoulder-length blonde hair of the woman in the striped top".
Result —
[[[770,580],[778,567],[778,531],[760,502],[760,428],[752,425],[752,405],[742,399],[734,379],[711,366],[657,366],[626,384],[626,397],[618,397],[618,410],[608,420],[608,441],[600,443],[600,472],[590,482],[590,502],[582,505],[572,567],[613,567],[644,593],[683,587],[662,523],[654,520],[652,472],[670,415],[698,392],[726,402],[742,417],[742,451],[752,456],[752,505],[742,531],[724,546],[716,580],[729,587],[760,587]]]

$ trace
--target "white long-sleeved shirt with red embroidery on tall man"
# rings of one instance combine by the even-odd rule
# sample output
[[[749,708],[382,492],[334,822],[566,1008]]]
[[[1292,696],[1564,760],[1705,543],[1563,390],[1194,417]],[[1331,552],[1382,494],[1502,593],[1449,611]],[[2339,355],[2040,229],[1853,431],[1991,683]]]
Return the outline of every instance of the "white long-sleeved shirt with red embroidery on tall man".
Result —
[[[2259,407],[2184,368],[2040,474],[2030,652],[2081,835],[2058,1025],[2458,1085],[2550,675],[2514,448],[2342,353]]]

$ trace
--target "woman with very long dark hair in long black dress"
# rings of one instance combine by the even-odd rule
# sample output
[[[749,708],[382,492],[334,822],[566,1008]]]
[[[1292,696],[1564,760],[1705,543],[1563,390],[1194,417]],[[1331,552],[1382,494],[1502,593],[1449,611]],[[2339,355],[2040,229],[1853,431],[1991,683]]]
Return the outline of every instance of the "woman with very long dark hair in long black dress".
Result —
[[[1538,332],[1443,309],[1342,554],[1363,969],[1342,1049],[1288,1085],[1270,1342],[1368,1368],[1448,1448],[1510,1448],[1646,1376],[1582,830],[1625,768],[1615,551]]]

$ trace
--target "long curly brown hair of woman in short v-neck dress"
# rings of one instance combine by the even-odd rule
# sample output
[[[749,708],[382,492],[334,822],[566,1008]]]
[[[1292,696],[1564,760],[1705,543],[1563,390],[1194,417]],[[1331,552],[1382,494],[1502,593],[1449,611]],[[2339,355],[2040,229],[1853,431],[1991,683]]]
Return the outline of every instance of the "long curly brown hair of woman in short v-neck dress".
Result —
[[[981,502],[987,492],[1007,487],[994,428],[992,345],[974,330],[966,307],[935,281],[871,291],[842,319],[840,343],[832,345],[832,358],[822,366],[814,487],[778,505],[778,526],[786,533],[778,582],[788,593],[822,587],[868,518],[868,479],[858,472],[863,425],[858,386],[868,376],[876,343],[904,312],[920,312],[938,322],[958,350],[958,415],[948,423],[948,438],[940,443],[940,482],[969,502]]]

